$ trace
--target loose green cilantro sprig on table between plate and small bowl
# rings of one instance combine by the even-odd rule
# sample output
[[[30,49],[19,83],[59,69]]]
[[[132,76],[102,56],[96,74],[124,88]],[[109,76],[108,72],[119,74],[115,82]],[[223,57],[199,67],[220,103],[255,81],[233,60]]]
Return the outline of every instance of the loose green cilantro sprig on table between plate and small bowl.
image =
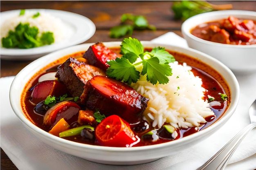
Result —
[[[143,29],[156,30],[155,26],[148,24],[143,15],[125,13],[121,16],[121,25],[113,26],[109,36],[110,38],[121,38],[125,35],[132,35],[133,30]]]

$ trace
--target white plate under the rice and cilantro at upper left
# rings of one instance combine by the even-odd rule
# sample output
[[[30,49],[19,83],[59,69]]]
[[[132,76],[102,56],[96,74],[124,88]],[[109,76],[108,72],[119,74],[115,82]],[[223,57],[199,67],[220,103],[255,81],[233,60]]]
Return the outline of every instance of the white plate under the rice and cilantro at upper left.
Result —
[[[96,31],[94,23],[83,15],[54,9],[26,9],[26,11],[44,12],[61,19],[65,26],[65,39],[61,42],[33,49],[6,49],[1,47],[1,59],[34,60],[53,51],[83,43],[91,38]],[[1,12],[1,25],[5,20],[19,15],[19,13],[20,9]]]

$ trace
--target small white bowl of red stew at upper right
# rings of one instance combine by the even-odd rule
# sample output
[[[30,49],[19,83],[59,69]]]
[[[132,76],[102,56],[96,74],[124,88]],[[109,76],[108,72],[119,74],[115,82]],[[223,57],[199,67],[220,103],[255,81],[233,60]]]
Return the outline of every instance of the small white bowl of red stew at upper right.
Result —
[[[235,74],[247,74],[256,72],[256,44],[253,45],[231,45],[221,44],[203,40],[191,34],[195,26],[228,18],[230,15],[241,18],[256,20],[255,11],[224,10],[213,11],[195,15],[182,24],[182,34],[189,47],[202,51],[215,57],[227,65]]]

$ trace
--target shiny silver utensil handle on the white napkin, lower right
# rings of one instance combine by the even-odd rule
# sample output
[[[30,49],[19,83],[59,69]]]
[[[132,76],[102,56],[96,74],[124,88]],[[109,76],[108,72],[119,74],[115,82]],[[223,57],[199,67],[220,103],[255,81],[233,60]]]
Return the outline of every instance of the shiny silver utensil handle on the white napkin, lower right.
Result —
[[[211,159],[204,165],[200,166],[197,170],[223,170],[231,155],[249,133],[250,130],[256,127],[256,123],[247,125],[235,137],[233,137],[223,148],[221,148]]]

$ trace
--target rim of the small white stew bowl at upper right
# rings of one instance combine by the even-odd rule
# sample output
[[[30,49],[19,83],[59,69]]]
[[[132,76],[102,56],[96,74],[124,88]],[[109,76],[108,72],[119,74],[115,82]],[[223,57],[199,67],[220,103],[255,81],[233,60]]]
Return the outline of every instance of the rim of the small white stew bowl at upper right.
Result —
[[[221,11],[211,11],[206,13],[201,13],[198,15],[194,15],[182,23],[182,34],[184,36],[188,36],[189,38],[196,40],[198,42],[202,42],[209,45],[216,46],[227,46],[231,48],[256,48],[256,44],[252,45],[235,45],[235,44],[222,44],[218,42],[211,42],[208,40],[203,40],[201,38],[196,37],[190,33],[190,30],[197,26],[198,24],[202,24],[205,22],[211,22],[219,19],[227,18],[229,15],[233,15],[235,17],[240,17],[242,19],[246,19],[247,17],[253,18],[252,20],[256,20],[256,11],[245,11],[245,10],[221,10]],[[217,17],[218,19],[204,20],[205,18]],[[202,20],[203,19],[203,20]],[[248,18],[247,18],[248,19]],[[198,21],[198,22],[195,22]]]

